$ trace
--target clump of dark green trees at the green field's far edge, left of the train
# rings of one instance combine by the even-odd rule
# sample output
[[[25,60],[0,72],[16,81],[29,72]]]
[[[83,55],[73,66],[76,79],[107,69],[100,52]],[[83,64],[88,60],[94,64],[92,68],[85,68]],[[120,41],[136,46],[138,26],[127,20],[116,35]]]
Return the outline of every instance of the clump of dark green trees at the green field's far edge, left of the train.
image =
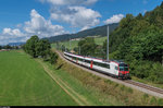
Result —
[[[47,39],[39,39],[38,36],[32,36],[23,46],[25,52],[33,58],[42,58],[45,61],[50,61],[54,64],[58,59],[58,55],[51,51],[51,45]]]

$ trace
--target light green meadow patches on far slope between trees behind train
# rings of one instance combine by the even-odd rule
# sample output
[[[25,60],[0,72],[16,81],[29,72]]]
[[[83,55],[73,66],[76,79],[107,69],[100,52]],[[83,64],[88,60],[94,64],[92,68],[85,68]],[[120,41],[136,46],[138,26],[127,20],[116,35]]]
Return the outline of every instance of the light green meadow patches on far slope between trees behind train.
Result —
[[[106,37],[97,37],[95,38],[95,41],[97,45],[103,45],[103,41],[106,39]],[[71,40],[71,48],[74,49],[77,47],[79,40]],[[61,41],[59,43],[60,46],[64,45],[66,48],[70,49],[70,41]],[[52,48],[57,48],[57,44],[51,44]]]

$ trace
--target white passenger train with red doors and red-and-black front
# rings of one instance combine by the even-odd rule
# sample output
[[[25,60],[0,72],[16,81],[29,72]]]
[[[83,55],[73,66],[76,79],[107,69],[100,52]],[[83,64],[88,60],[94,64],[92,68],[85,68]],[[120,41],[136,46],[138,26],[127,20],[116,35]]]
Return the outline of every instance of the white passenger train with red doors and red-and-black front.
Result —
[[[116,60],[102,60],[97,58],[78,56],[70,52],[64,52],[64,58],[70,61],[73,61],[77,64],[87,67],[89,69],[102,72],[104,74],[117,77],[117,79],[130,79],[129,76],[129,67]]]

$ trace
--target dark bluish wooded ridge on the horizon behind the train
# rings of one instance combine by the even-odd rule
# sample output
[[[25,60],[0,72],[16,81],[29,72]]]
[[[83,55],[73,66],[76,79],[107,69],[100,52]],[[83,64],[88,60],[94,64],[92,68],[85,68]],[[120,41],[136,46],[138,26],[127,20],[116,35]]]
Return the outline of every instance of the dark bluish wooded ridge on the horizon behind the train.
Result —
[[[112,33],[116,27],[118,26],[117,23],[115,24],[111,24],[110,25],[110,33]],[[50,43],[54,43],[54,41],[63,41],[63,40],[68,40],[74,39],[74,38],[84,38],[87,36],[106,36],[106,25],[104,26],[98,26],[95,28],[90,28],[90,29],[86,29],[86,31],[82,31],[79,33],[76,34],[64,34],[64,35],[59,35],[59,36],[52,36],[47,38]]]

